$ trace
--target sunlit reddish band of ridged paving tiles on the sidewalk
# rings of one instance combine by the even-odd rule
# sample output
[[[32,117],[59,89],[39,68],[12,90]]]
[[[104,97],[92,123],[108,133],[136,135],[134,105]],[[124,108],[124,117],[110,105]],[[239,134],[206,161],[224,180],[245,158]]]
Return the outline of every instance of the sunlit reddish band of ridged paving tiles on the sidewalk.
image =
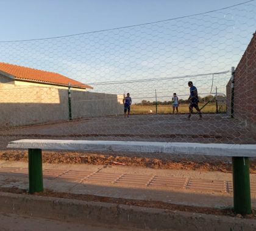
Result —
[[[192,191],[207,191],[219,193],[232,193],[232,181],[221,181],[214,179],[180,178],[177,176],[157,176],[156,174],[127,174],[124,173],[104,173],[102,168],[97,171],[76,171],[76,170],[54,170],[44,169],[44,179],[66,180],[78,182],[79,184],[107,183],[112,185],[136,185],[139,187],[166,188],[166,190],[183,189]],[[1,167],[0,176],[6,178],[28,178],[27,168]],[[1,185],[3,185],[2,182]],[[251,182],[251,193],[256,194],[256,183]]]

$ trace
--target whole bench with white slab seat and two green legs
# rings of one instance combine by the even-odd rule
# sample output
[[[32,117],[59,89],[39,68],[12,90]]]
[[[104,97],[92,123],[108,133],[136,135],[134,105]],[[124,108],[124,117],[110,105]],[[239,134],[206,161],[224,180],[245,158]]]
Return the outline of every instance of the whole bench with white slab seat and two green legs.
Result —
[[[8,148],[29,150],[29,192],[43,191],[42,150],[112,151],[228,156],[233,165],[233,202],[236,213],[251,213],[249,157],[256,157],[256,145],[223,143],[133,142],[103,140],[33,140],[12,141]]]

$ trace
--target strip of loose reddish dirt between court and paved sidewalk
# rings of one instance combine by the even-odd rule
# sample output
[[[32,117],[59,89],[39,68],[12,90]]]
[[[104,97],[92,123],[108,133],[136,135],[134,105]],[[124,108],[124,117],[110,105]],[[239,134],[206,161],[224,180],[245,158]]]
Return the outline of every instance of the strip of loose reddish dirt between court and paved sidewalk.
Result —
[[[27,158],[27,151],[0,151],[0,160],[27,162]],[[125,154],[118,156],[116,154],[44,151],[43,162],[48,164],[126,165],[155,169],[232,172],[232,164],[226,159],[186,159],[180,156],[172,159],[159,159],[138,156],[137,154],[134,154],[134,156],[125,156]],[[256,173],[255,160],[250,162],[250,172]]]

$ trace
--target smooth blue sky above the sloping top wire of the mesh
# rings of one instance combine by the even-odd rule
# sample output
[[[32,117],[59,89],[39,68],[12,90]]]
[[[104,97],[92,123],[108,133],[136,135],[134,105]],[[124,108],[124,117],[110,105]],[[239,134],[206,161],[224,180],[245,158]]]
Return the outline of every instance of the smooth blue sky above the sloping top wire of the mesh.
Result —
[[[0,0],[0,41],[143,24],[241,2],[243,0]]]

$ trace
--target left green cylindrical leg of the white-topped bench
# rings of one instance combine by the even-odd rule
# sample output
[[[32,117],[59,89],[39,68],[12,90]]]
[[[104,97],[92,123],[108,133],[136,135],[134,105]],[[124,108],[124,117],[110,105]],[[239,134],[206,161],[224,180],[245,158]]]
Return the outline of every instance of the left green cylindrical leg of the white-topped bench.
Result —
[[[29,193],[43,191],[42,150],[29,149]]]

